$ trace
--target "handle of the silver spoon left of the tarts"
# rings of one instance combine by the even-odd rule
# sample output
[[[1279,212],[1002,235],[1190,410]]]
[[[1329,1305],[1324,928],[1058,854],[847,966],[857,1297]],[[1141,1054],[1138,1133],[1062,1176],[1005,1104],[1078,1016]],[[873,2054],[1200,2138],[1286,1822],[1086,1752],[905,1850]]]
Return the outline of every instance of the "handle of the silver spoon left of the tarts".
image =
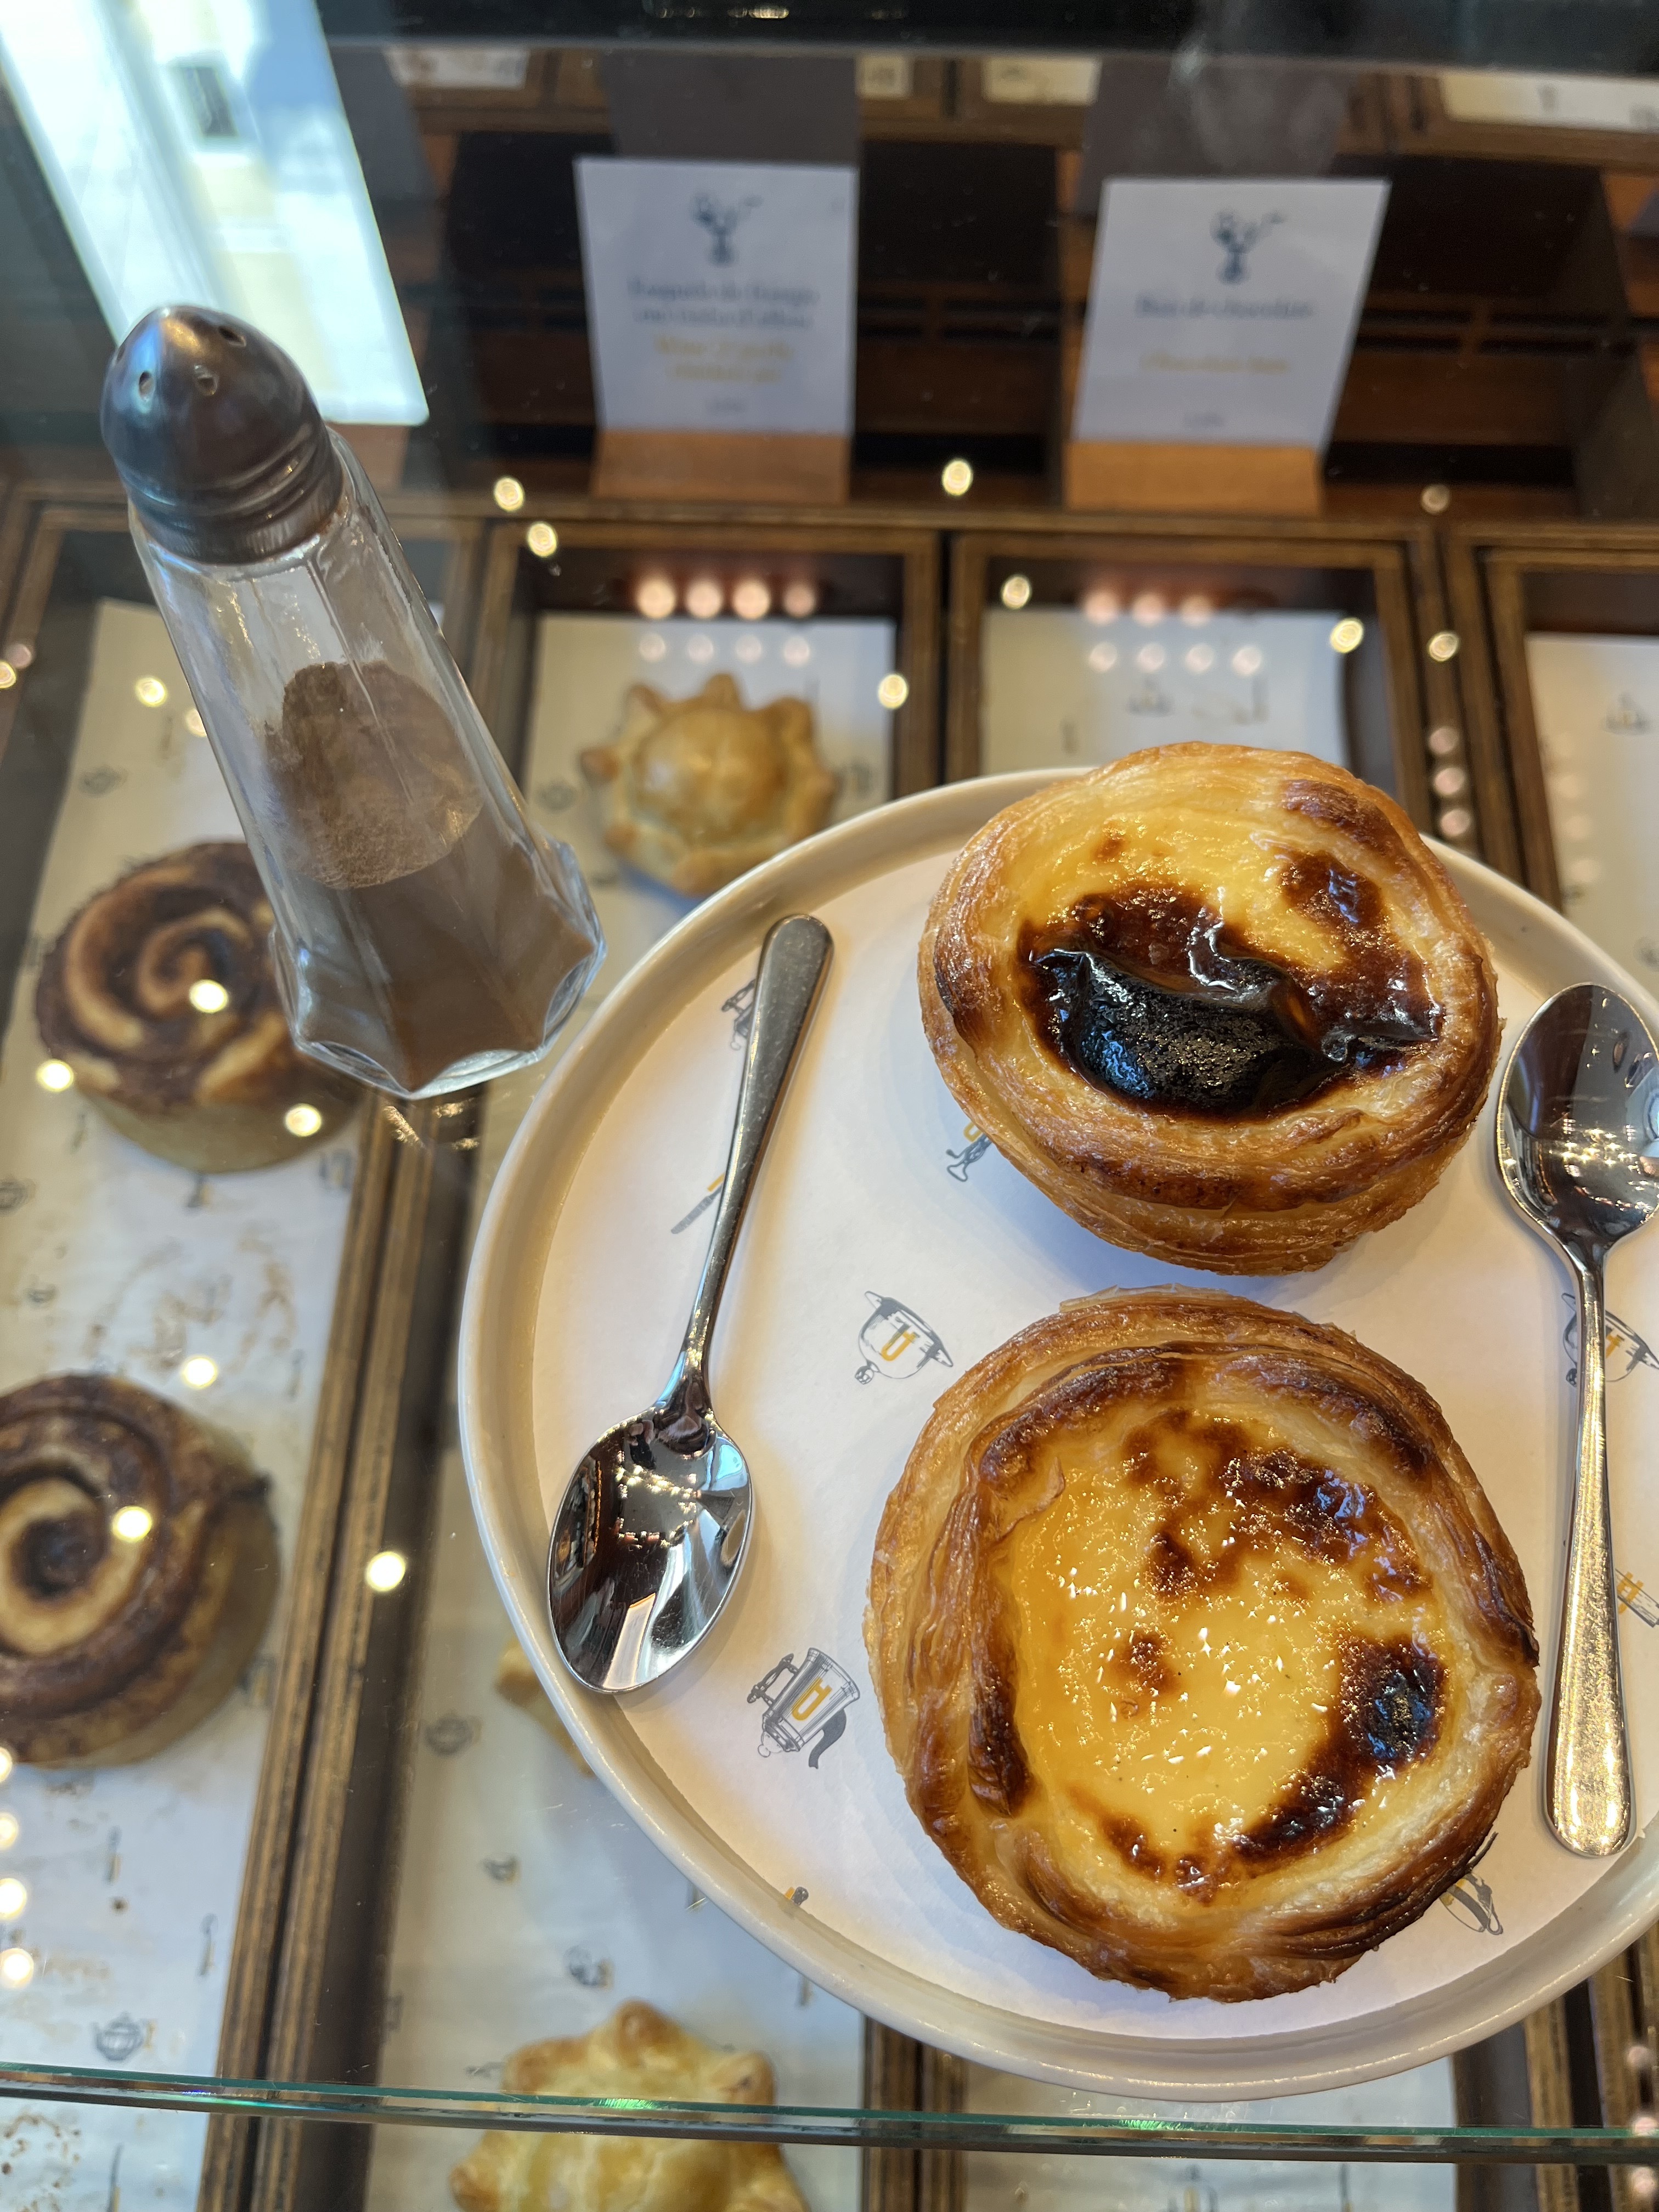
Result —
[[[794,1055],[812,1022],[823,978],[830,971],[834,940],[816,914],[790,914],[774,922],[761,945],[761,967],[754,978],[754,1018],[750,1048],[743,1060],[743,1088],[737,1093],[732,1150],[726,1161],[726,1183],[714,1212],[714,1234],[708,1239],[703,1279],[697,1285],[686,1343],[675,1367],[670,1391],[686,1383],[703,1385],[703,1363],[714,1314],[726,1290],[726,1272],[743,1228],[754,1170],[761,1166],[765,1139],[790,1082]]]

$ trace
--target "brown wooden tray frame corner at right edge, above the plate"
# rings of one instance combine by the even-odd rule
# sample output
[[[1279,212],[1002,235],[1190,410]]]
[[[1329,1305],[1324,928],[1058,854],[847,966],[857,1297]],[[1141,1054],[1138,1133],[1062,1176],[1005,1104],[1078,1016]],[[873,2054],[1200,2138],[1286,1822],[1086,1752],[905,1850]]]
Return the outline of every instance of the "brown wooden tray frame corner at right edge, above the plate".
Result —
[[[1469,763],[1480,812],[1506,816],[1498,865],[1562,902],[1526,633],[1646,624],[1659,637],[1659,526],[1637,522],[1464,524],[1447,533],[1453,622],[1469,639]]]

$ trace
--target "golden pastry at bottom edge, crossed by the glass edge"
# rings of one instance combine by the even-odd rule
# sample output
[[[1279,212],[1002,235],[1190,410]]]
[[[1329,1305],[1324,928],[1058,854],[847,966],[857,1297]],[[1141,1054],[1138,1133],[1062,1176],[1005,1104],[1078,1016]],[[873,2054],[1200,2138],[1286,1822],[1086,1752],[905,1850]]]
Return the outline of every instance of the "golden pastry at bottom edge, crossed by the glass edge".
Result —
[[[520,2097],[774,2099],[759,2051],[717,2051],[648,2004],[617,2006],[588,2035],[526,2044],[502,2066],[502,2088]],[[491,2132],[449,2188],[462,2212],[807,2212],[776,2143]]]

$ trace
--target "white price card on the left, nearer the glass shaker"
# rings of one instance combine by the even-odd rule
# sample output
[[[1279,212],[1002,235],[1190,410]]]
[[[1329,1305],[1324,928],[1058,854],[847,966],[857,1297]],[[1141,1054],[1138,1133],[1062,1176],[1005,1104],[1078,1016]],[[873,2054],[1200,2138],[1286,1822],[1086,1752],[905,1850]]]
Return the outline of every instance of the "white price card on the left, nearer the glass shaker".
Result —
[[[856,170],[575,168],[606,429],[849,436]]]

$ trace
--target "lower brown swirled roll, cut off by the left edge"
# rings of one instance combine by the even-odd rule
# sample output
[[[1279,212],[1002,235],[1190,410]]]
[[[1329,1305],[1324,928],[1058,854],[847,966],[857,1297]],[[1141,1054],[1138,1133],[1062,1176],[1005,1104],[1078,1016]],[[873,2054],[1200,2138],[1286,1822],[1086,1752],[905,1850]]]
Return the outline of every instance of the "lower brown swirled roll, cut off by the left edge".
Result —
[[[27,1765],[128,1765],[204,1721],[276,1595],[265,1482],[115,1376],[0,1398],[0,1741]]]

